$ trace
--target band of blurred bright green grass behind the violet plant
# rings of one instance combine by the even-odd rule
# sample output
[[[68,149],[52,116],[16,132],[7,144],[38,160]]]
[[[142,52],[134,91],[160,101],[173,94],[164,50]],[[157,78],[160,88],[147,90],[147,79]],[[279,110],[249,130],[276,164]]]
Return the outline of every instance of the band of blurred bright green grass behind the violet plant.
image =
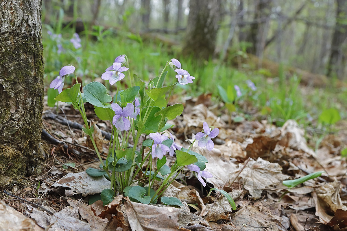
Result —
[[[302,94],[296,76],[287,80],[283,77],[267,79],[260,71],[239,71],[228,63],[214,60],[201,65],[192,58],[178,56],[164,44],[144,42],[137,35],[121,31],[105,33],[99,30],[97,33],[94,32],[97,38],[82,35],[82,48],[75,50],[69,42],[73,35],[72,30],[61,28],[61,44],[65,51],[58,54],[57,42],[47,34],[47,28],[49,27],[44,27],[43,30],[46,86],[56,78],[60,68],[67,64],[76,66],[77,75],[85,83],[100,78],[104,70],[111,66],[115,57],[120,54],[127,55],[131,75],[137,74],[144,81],[149,81],[160,74],[168,60],[175,57],[182,63],[182,68],[195,77],[193,84],[177,85],[174,91],[176,94],[198,96],[202,93],[212,93],[213,100],[219,101],[218,85],[225,89],[227,86],[234,89],[234,85],[238,85],[243,96],[236,98],[236,106],[240,109],[239,105],[250,102],[259,113],[268,116],[270,121],[276,121],[278,125],[282,125],[288,119],[296,119],[299,123],[307,124],[307,114],[316,119],[322,110],[328,107],[338,108],[342,118],[347,116],[346,89],[338,90],[338,94],[336,89],[311,89],[310,92]],[[167,85],[177,81],[175,72],[171,69],[168,71]],[[125,81],[128,81],[128,73],[125,74]],[[284,73],[281,76],[284,76]],[[256,91],[248,88],[248,79],[255,83]]]

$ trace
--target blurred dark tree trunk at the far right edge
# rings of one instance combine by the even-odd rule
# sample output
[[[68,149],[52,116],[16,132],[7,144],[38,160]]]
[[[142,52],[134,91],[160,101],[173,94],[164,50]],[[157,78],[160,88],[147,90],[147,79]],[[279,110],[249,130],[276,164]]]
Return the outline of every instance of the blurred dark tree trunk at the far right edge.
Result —
[[[336,75],[337,78],[342,79],[345,74],[346,68],[346,44],[347,44],[347,1],[336,0],[337,14],[335,32],[331,42],[331,54],[328,64],[328,76]]]

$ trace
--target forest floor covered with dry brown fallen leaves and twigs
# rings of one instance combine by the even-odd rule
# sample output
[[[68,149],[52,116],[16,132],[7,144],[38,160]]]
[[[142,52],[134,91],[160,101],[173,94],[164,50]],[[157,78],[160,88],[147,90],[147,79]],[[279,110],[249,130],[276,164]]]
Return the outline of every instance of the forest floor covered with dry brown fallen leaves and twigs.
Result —
[[[174,96],[170,103],[182,103],[182,99]],[[204,121],[220,130],[212,151],[200,148],[197,142],[192,148],[209,161],[205,170],[213,177],[207,179],[206,187],[184,168],[163,194],[184,204],[176,207],[134,203],[122,196],[105,207],[102,202],[88,205],[90,195],[100,193],[109,182],[85,173],[88,167],[98,168],[99,160],[78,127],[82,118],[67,104],[59,104],[59,109],[45,107],[42,173],[28,177],[31,184],[12,192],[40,207],[2,193],[0,224],[8,219],[7,224],[16,221],[17,227],[0,225],[0,230],[347,229],[347,163],[340,156],[347,145],[347,122],[338,122],[339,130],[325,135],[314,151],[314,131],[304,131],[294,120],[277,127],[265,119],[247,121],[242,114],[228,113],[222,106],[214,105],[208,96],[186,99],[183,114],[171,122],[175,124],[171,131],[175,142],[186,148]],[[107,153],[104,137],[111,131],[110,124],[99,121],[91,105],[86,110],[88,119],[96,124],[98,148]],[[174,158],[168,157],[169,161]],[[316,171],[325,173],[293,188],[282,185],[283,180]],[[237,209],[232,210],[224,196],[214,192],[208,196],[213,187],[225,190]]]

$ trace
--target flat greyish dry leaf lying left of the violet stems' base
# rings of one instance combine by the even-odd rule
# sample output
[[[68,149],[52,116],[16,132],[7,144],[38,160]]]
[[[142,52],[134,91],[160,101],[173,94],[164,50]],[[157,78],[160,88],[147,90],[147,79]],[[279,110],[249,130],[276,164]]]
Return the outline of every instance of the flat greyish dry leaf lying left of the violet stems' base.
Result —
[[[59,179],[52,187],[66,187],[66,196],[82,194],[82,196],[101,193],[102,190],[110,187],[110,181],[104,177],[91,177],[85,171],[68,173]]]

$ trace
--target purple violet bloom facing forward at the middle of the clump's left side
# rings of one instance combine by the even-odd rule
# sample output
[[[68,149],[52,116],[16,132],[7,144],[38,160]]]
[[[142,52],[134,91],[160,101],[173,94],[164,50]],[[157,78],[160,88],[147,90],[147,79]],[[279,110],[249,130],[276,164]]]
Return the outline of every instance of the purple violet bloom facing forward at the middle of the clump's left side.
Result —
[[[113,116],[112,124],[119,131],[128,131],[130,127],[130,121],[125,118],[130,116],[134,112],[134,105],[128,103],[123,109],[115,103],[111,104],[111,108],[115,111],[115,116]]]

